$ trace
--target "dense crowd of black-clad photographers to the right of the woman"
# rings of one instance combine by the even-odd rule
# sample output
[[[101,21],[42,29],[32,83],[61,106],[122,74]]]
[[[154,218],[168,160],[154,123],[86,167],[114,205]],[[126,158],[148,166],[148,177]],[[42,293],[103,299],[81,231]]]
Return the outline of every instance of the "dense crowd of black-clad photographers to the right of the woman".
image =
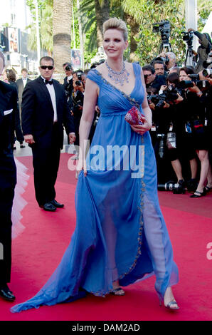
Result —
[[[200,43],[203,41],[196,68],[178,66],[176,55],[170,51],[143,66],[143,72],[153,116],[150,134],[160,190],[166,190],[162,182],[167,182],[169,175],[176,182],[174,193],[188,190],[194,192],[191,197],[201,197],[212,187],[212,52],[210,36],[195,33]],[[173,170],[169,170],[170,163]]]

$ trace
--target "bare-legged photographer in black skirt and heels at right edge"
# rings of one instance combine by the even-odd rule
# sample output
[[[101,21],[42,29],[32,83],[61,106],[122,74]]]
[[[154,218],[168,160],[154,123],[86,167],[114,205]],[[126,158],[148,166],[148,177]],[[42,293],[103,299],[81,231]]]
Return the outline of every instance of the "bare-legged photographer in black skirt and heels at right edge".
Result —
[[[206,86],[206,83],[197,81],[194,77],[194,71],[191,68],[181,68],[179,80],[181,81],[181,88],[184,88],[184,100],[186,101],[186,108],[190,113],[192,142],[201,163],[199,182],[196,191],[191,195],[191,197],[197,198],[206,195],[204,183],[207,177],[209,184],[212,184],[212,180],[208,160],[209,133],[208,125],[206,125],[205,121],[206,113],[203,99],[203,87]]]

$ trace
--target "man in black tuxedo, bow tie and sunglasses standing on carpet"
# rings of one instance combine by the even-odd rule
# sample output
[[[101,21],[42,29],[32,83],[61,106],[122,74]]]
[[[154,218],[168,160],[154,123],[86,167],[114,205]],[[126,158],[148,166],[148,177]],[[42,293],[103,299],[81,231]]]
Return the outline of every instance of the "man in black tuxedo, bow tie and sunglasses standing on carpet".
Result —
[[[53,58],[42,57],[39,71],[41,76],[27,83],[23,91],[21,118],[24,139],[33,151],[36,200],[44,210],[53,212],[63,207],[55,200],[63,125],[71,144],[75,128],[64,88],[52,79]]]

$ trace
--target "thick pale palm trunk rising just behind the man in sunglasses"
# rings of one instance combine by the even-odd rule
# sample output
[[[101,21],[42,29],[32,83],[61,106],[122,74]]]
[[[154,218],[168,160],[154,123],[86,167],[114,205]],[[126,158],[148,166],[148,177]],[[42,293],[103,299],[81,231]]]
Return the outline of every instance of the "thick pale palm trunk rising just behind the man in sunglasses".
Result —
[[[55,71],[63,71],[63,63],[70,62],[72,1],[53,0],[53,58]]]

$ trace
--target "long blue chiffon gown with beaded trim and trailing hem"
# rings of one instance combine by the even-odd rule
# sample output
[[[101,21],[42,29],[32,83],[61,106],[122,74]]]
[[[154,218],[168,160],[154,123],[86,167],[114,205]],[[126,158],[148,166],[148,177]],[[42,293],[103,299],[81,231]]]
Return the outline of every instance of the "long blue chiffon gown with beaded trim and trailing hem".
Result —
[[[73,301],[88,292],[105,296],[117,279],[127,286],[153,274],[155,289],[164,297],[179,280],[159,207],[150,135],[135,133],[124,120],[144,98],[141,68],[137,63],[133,68],[136,81],[129,96],[97,69],[88,73],[100,88],[101,116],[87,156],[88,175],[81,171],[78,177],[75,232],[48,282],[13,312]]]

